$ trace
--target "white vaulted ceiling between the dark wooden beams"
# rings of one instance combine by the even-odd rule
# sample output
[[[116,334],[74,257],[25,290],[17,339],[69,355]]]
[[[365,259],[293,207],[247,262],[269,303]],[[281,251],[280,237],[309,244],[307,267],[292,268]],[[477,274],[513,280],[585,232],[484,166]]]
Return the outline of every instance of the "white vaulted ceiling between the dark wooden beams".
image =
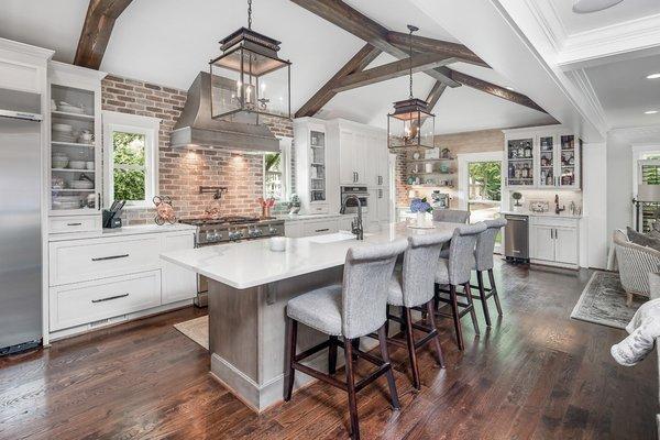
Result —
[[[254,0],[253,28],[280,40],[280,56],[293,62],[292,107],[298,109],[351,57],[364,42],[288,0]],[[414,23],[420,35],[453,41],[435,20],[408,0],[348,0],[346,3],[391,30]],[[2,0],[0,37],[56,51],[55,58],[72,63],[88,0]],[[451,11],[448,11],[451,13]],[[246,24],[244,0],[134,0],[118,19],[101,70],[187,89],[208,61],[219,55],[218,41]],[[392,61],[381,55],[373,64]],[[515,84],[495,72],[457,64],[457,70],[505,86]],[[339,94],[320,113],[384,127],[392,102],[407,98],[408,79]],[[432,87],[425,74],[415,75],[420,98]],[[525,90],[518,90],[525,94]],[[544,113],[481,91],[447,89],[435,112],[439,133],[548,123]]]

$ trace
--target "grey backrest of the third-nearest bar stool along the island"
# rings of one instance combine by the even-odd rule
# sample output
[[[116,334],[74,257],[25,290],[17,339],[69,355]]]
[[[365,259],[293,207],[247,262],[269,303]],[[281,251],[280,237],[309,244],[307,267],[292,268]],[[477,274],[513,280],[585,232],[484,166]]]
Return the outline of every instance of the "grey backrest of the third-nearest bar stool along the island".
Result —
[[[460,226],[454,230],[449,245],[449,283],[459,286],[470,282],[476,239],[485,230],[486,223],[483,221]]]

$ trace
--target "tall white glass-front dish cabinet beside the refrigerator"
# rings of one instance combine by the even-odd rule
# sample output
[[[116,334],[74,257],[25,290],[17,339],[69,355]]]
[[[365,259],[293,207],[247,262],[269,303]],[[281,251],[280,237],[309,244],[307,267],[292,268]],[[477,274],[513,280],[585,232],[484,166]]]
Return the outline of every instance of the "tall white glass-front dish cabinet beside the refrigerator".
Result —
[[[53,217],[72,217],[70,232],[81,232],[78,216],[101,216],[101,79],[105,75],[63,63],[48,65],[48,209]],[[100,223],[89,224],[97,228]]]

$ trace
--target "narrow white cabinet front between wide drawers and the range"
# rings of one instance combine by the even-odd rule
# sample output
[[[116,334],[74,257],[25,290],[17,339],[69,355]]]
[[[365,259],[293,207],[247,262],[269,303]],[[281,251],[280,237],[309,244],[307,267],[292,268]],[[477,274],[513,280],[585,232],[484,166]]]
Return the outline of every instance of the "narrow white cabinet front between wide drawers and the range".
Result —
[[[195,248],[195,235],[191,233],[164,234],[163,237],[163,252],[193,248]],[[197,294],[197,275],[195,272],[164,260],[162,262],[162,302],[169,304],[194,298]]]

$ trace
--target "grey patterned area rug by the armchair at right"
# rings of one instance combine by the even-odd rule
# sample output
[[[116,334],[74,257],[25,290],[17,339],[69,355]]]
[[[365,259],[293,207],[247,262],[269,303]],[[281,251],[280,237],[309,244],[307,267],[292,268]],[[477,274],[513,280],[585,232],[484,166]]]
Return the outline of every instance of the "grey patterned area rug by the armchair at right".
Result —
[[[626,306],[626,290],[615,272],[594,272],[582,290],[571,318],[601,326],[625,329],[644,299],[635,296],[632,305]]]

